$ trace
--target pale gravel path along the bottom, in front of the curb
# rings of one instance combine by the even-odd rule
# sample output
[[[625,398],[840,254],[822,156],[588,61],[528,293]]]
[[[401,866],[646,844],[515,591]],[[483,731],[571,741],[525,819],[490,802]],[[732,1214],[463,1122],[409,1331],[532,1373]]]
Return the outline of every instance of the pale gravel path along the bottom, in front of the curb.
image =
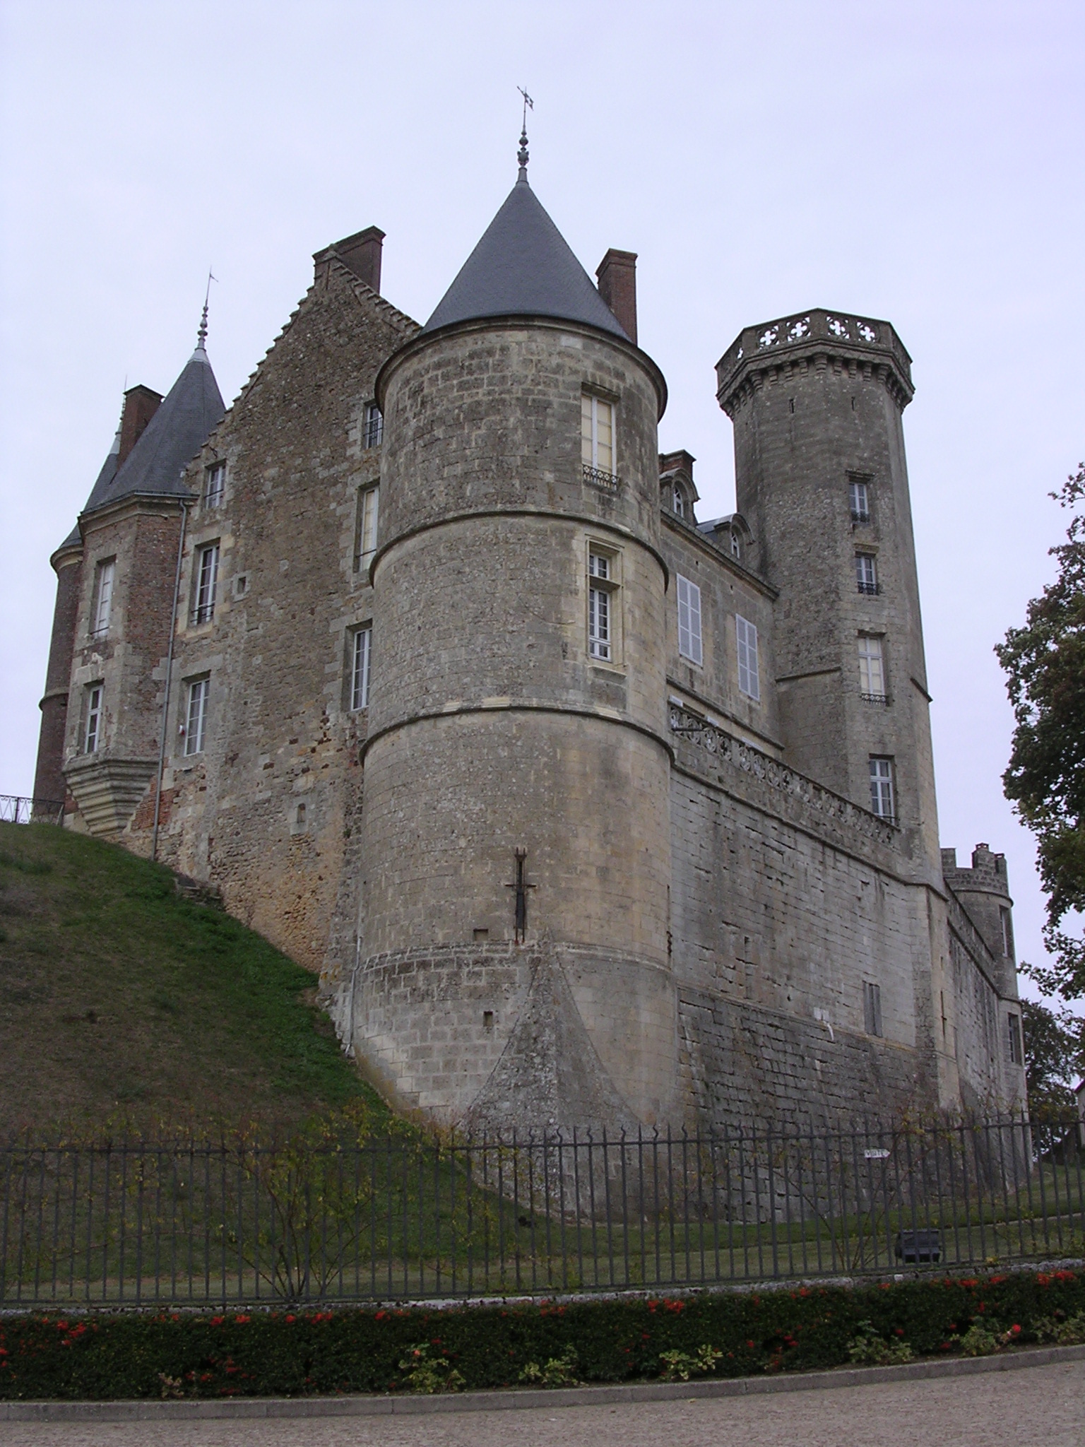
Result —
[[[1082,1447],[1085,1363],[751,1398],[278,1421],[0,1424],[3,1447]]]

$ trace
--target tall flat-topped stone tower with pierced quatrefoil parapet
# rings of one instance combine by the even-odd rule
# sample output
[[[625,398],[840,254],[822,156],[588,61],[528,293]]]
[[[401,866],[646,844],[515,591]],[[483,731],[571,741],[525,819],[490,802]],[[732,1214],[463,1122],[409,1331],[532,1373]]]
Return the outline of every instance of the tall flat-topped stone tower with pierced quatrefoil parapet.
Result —
[[[812,310],[748,327],[718,365],[738,508],[780,589],[788,761],[890,815],[940,877],[901,412],[911,359],[887,321]]]

